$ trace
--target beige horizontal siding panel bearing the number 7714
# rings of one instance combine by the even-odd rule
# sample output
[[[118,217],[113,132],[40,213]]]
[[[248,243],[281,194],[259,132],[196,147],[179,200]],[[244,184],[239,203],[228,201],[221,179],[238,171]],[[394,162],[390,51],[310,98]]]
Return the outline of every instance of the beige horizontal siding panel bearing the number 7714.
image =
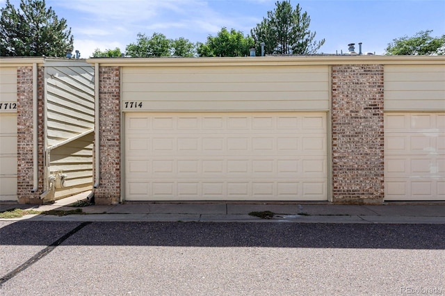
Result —
[[[123,67],[122,109],[328,110],[328,72],[328,66]]]

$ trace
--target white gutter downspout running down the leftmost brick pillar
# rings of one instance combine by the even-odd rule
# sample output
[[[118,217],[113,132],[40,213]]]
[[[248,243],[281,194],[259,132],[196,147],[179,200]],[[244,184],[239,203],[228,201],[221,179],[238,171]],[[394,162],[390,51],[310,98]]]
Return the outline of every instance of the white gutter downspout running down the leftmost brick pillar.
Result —
[[[38,66],[33,63],[33,189],[38,190],[39,161],[38,161]]]

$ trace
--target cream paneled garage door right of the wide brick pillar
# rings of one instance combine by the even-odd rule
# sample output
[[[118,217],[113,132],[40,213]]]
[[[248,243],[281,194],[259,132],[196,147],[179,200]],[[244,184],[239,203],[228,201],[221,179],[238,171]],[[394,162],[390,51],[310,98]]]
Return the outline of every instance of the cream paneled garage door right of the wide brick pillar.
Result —
[[[385,199],[445,200],[445,113],[385,115]]]

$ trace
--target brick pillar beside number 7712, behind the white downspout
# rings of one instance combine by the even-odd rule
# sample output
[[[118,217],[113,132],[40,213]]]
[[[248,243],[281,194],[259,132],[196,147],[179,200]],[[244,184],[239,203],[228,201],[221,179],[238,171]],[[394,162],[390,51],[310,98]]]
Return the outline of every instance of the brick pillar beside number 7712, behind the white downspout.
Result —
[[[43,67],[38,67],[38,143],[33,142],[33,67],[17,68],[17,198],[19,204],[42,204]],[[38,145],[38,188],[33,189],[33,147]]]

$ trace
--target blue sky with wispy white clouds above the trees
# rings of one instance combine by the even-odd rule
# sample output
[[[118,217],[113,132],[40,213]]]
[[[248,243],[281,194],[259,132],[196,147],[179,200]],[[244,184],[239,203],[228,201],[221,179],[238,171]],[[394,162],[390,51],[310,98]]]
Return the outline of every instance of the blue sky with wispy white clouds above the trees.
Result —
[[[124,51],[138,33],[163,33],[205,42],[223,26],[247,35],[276,0],[46,0],[58,17],[67,19],[74,49],[88,58],[96,49]],[[6,0],[0,0],[3,8]],[[19,0],[10,0],[19,8]],[[291,0],[311,17],[316,40],[325,38],[325,54],[363,42],[363,51],[383,54],[394,38],[433,30],[445,34],[445,0]],[[357,49],[357,47],[356,47]]]

